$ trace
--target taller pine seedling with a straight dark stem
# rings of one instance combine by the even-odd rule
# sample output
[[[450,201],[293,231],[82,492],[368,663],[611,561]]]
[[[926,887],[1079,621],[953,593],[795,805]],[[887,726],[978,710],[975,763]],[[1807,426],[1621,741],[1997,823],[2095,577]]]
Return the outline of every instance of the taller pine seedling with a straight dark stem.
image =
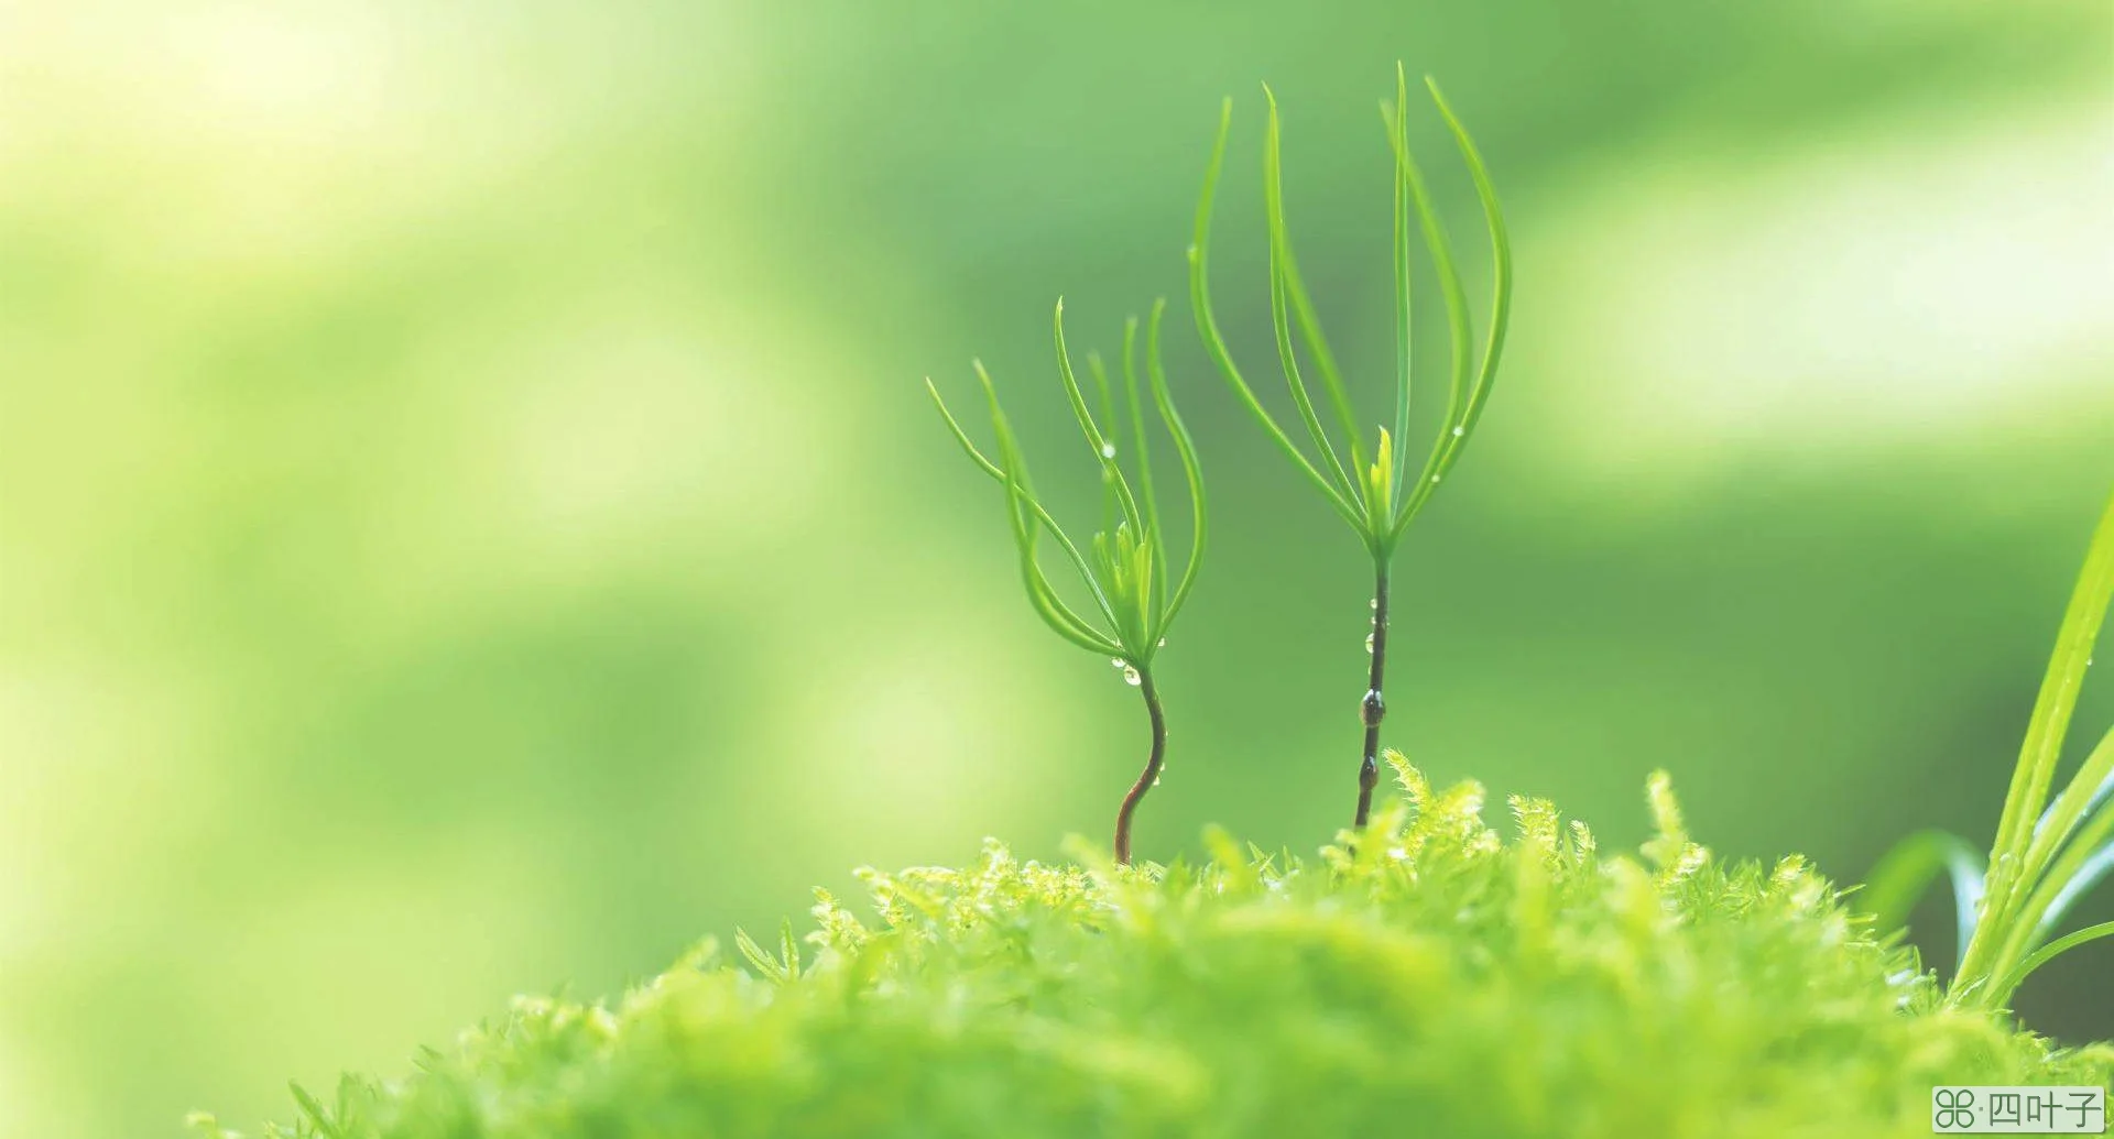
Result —
[[[1218,361],[1218,368],[1232,387],[1232,393],[1256,416],[1256,423],[1262,425],[1271,442],[1275,442],[1292,465],[1315,484],[1321,497],[1351,526],[1351,530],[1357,533],[1366,552],[1372,556],[1372,636],[1366,640],[1366,647],[1372,651],[1372,672],[1368,674],[1366,695],[1359,702],[1359,721],[1366,727],[1366,744],[1357,771],[1357,814],[1353,818],[1353,824],[1359,828],[1366,826],[1372,811],[1372,788],[1380,778],[1380,721],[1387,716],[1383,678],[1387,674],[1389,566],[1404,530],[1408,530],[1410,522],[1418,516],[1418,511],[1423,511],[1425,503],[1431,501],[1431,494],[1438,490],[1446,473],[1452,471],[1452,465],[1461,459],[1461,450],[1467,446],[1469,435],[1476,431],[1484,402],[1490,397],[1490,382],[1497,376],[1497,359],[1505,344],[1505,321],[1512,309],[1512,245],[1505,235],[1505,216],[1497,203],[1497,192],[1490,188],[1490,178],[1473,139],[1469,139],[1467,129],[1461,127],[1461,120],[1446,104],[1438,82],[1425,76],[1425,87],[1429,87],[1431,101],[1438,104],[1440,116],[1446,118],[1446,127],[1452,131],[1454,144],[1461,148],[1469,178],[1476,182],[1476,194],[1482,199],[1484,220],[1490,228],[1490,328],[1478,363],[1471,347],[1473,334],[1469,328],[1467,292],[1461,285],[1461,273],[1454,266],[1452,247],[1446,241],[1446,228],[1440,224],[1438,211],[1431,205],[1431,194],[1425,190],[1423,173],[1416,167],[1416,158],[1410,154],[1408,80],[1397,63],[1395,101],[1380,104],[1380,118],[1387,125],[1389,146],[1395,152],[1395,425],[1393,431],[1380,427],[1378,444],[1374,446],[1370,463],[1366,459],[1364,444],[1359,442],[1357,414],[1351,410],[1351,397],[1345,387],[1342,372],[1336,368],[1336,357],[1330,353],[1328,340],[1321,336],[1321,321],[1306,294],[1306,285],[1300,279],[1298,260],[1292,254],[1292,237],[1285,230],[1283,186],[1279,173],[1281,127],[1277,116],[1277,97],[1271,95],[1268,87],[1264,87],[1271,116],[1262,148],[1262,192],[1271,230],[1271,323],[1277,332],[1277,355],[1285,372],[1285,385],[1292,389],[1292,402],[1298,408],[1300,423],[1306,427],[1306,435],[1313,440],[1315,452],[1319,452],[1319,463],[1311,461],[1300,450],[1300,444],[1296,444],[1285,429],[1277,425],[1271,412],[1264,410],[1262,402],[1256,399],[1254,389],[1249,389],[1247,380],[1241,378],[1241,370],[1235,366],[1232,353],[1226,349],[1226,340],[1218,332],[1218,319],[1211,315],[1207,264],[1211,201],[1218,192],[1218,175],[1226,158],[1226,133],[1232,125],[1232,99],[1226,99],[1220,110],[1218,144],[1211,148],[1211,165],[1205,173],[1203,194],[1197,203],[1197,241],[1190,245],[1190,298],[1197,309],[1197,332],[1203,336],[1205,349],[1209,349],[1211,359]],[[1431,254],[1433,268],[1438,270],[1440,294],[1446,302],[1448,334],[1452,338],[1446,418],[1440,425],[1438,440],[1425,456],[1423,469],[1414,475],[1408,467],[1406,444],[1410,429],[1412,207],[1418,228],[1423,230],[1423,243]],[[1298,342],[1304,344],[1315,372],[1321,374],[1321,387],[1328,393],[1328,402],[1334,408],[1334,416],[1345,435],[1345,454],[1349,456],[1349,465],[1345,465],[1321,425],[1321,416],[1315,412],[1313,397],[1300,376],[1300,353],[1294,342],[1294,332]]]

